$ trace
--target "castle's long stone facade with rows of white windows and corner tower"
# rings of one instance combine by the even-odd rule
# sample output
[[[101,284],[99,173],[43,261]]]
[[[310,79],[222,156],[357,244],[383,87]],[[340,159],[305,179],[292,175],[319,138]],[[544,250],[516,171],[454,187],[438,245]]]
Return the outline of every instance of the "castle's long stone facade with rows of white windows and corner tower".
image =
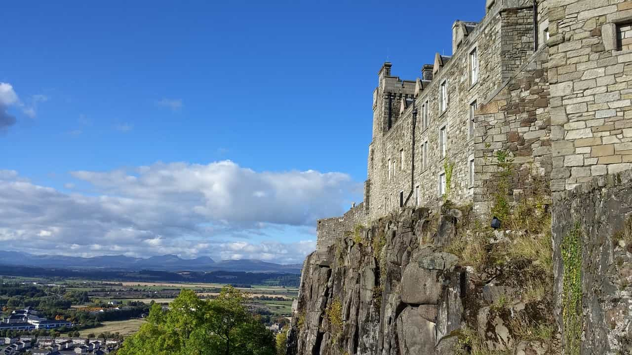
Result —
[[[506,9],[503,5],[504,2],[499,1],[492,6],[481,23],[463,39],[453,57],[441,58],[443,63],[440,63],[439,71],[435,73],[432,81],[420,81],[421,88],[417,92],[414,105],[418,111],[414,136],[413,104],[408,104],[401,115],[399,102],[397,105],[391,104],[392,109],[398,111],[398,118],[394,120],[391,129],[382,132],[376,129],[376,124],[377,127],[384,128],[381,123],[384,122],[384,115],[388,114],[385,109],[388,92],[383,90],[385,79],[380,76],[380,86],[375,93],[377,99],[374,105],[374,139],[368,153],[366,190],[370,201],[370,220],[399,210],[401,191],[404,200],[408,200],[407,205],[414,206],[416,186],[419,186],[419,205],[432,206],[441,203],[439,174],[445,172],[446,162],[454,164],[448,198],[461,204],[473,201],[474,185],[470,183],[469,169],[470,160],[474,159],[475,144],[473,135],[469,133],[470,104],[482,102],[490,92],[501,86],[501,68],[515,71],[519,69],[516,63],[523,63],[533,52],[533,9],[528,6]],[[503,41],[506,51],[514,51],[506,57],[501,56]],[[472,85],[469,75],[469,54],[473,49],[477,49],[478,54],[478,80]],[[389,63],[389,75],[390,68]],[[380,73],[383,71],[384,69],[380,70]],[[440,112],[439,87],[444,81],[447,81],[449,103],[446,111]],[[408,83],[409,81],[406,81],[401,88],[404,96],[411,90]],[[401,87],[401,81],[399,86]],[[428,102],[429,107],[427,126],[424,126],[422,121],[422,105],[425,102]],[[441,156],[439,149],[439,131],[443,126],[447,127],[446,157]],[[425,144],[427,160],[424,162]],[[403,164],[400,159],[402,153]],[[389,160],[392,169],[390,179]],[[413,163],[414,174],[411,172]]]

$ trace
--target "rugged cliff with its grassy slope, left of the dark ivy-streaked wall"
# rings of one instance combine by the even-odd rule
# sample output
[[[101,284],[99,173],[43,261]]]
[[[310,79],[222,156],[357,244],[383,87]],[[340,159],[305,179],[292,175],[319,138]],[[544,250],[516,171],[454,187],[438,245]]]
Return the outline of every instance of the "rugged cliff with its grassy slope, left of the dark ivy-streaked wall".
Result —
[[[288,354],[554,353],[549,219],[531,207],[531,231],[444,205],[343,232],[305,260]]]

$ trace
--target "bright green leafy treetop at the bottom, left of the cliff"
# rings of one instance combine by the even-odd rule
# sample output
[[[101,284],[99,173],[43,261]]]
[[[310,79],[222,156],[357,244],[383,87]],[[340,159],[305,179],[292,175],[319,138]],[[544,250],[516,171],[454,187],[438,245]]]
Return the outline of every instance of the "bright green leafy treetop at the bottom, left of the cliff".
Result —
[[[128,337],[118,355],[274,355],[272,332],[251,315],[238,289],[224,287],[216,299],[183,290],[163,311],[154,304],[147,323]]]

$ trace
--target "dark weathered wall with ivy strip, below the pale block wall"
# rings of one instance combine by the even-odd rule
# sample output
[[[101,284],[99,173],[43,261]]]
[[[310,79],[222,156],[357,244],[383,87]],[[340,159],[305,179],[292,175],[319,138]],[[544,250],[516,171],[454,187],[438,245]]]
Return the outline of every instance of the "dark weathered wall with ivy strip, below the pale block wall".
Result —
[[[573,351],[573,334],[583,339],[575,343],[581,354],[631,354],[632,171],[557,194],[552,217],[556,317],[566,354],[580,353]],[[578,289],[568,286],[574,275],[581,277]],[[568,302],[573,292],[576,313]]]

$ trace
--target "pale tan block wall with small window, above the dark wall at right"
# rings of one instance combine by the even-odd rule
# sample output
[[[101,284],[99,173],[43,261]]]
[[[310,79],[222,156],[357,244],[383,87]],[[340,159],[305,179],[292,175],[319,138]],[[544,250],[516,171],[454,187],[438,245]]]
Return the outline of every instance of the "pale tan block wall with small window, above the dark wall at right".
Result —
[[[632,1],[550,0],[553,191],[632,168]],[[627,33],[625,34],[627,35]]]

